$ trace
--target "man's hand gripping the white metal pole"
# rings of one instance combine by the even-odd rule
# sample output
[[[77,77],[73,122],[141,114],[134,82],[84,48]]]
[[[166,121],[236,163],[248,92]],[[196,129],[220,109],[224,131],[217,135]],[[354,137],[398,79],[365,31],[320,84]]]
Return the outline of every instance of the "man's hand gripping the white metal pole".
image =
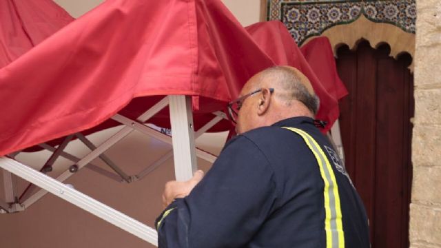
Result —
[[[176,198],[183,198],[188,196],[194,186],[196,186],[204,177],[204,172],[198,170],[194,172],[194,176],[185,182],[178,182],[176,180],[167,182],[163,192],[163,207],[167,207]]]

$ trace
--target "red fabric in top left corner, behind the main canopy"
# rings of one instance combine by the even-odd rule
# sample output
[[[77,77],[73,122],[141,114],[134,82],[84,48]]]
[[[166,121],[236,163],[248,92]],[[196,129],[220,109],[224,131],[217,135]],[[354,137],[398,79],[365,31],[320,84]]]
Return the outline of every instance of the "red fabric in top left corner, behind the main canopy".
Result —
[[[73,20],[52,0],[0,0],[0,68]]]

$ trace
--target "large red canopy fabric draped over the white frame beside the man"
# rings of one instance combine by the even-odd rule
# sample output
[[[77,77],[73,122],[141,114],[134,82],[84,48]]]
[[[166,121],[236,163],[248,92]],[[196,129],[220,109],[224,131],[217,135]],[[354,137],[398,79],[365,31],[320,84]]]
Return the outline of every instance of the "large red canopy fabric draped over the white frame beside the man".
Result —
[[[136,118],[170,94],[194,96],[197,130],[276,64],[295,66],[320,93],[280,23],[247,32],[219,0],[107,0],[0,70],[0,155],[116,125],[116,112]],[[168,117],[149,122],[167,127]]]

